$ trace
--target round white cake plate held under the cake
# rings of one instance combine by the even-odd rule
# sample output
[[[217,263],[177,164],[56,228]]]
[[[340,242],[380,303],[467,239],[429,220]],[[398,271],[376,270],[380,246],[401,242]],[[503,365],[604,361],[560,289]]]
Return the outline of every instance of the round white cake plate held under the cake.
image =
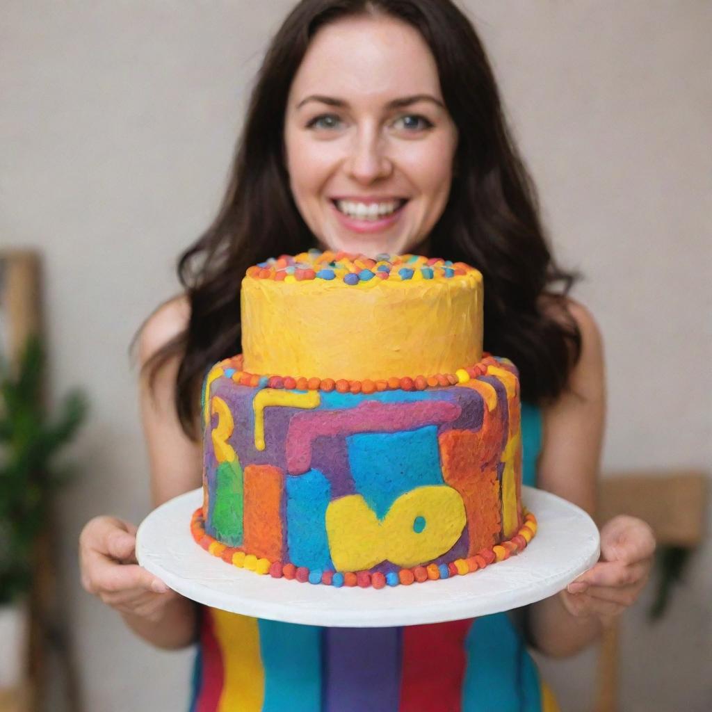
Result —
[[[202,489],[187,492],[147,516],[137,534],[140,565],[206,606],[288,623],[376,628],[498,613],[554,595],[599,557],[598,529],[589,515],[553,494],[523,487],[538,532],[516,556],[465,576],[410,586],[312,585],[231,566],[199,547],[189,524],[202,498]]]

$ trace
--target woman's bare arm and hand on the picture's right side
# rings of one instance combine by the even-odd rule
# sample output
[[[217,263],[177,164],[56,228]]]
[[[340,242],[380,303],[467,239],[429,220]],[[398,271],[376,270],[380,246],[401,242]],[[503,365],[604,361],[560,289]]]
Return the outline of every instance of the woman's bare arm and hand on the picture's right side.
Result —
[[[570,388],[544,409],[538,486],[593,515],[605,414],[605,374],[599,330],[590,313],[570,302],[582,348]],[[654,550],[641,520],[615,518],[601,530],[601,560],[558,595],[528,611],[531,641],[545,654],[567,656],[592,642],[612,617],[637,599]]]

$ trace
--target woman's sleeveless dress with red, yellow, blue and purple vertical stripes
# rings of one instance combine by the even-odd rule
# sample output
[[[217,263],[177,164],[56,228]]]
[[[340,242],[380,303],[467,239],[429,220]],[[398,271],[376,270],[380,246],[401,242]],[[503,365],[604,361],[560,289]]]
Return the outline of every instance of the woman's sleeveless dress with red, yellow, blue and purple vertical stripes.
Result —
[[[540,411],[522,404],[534,486]],[[432,625],[323,628],[201,609],[191,712],[555,712],[508,613]]]

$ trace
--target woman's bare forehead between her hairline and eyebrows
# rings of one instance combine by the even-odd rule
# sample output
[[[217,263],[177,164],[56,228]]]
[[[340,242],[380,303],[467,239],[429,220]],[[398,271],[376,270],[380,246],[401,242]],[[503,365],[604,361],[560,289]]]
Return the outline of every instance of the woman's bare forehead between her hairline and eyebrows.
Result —
[[[345,18],[314,36],[290,90],[290,103],[310,94],[347,101],[440,98],[434,57],[416,28],[389,16]]]

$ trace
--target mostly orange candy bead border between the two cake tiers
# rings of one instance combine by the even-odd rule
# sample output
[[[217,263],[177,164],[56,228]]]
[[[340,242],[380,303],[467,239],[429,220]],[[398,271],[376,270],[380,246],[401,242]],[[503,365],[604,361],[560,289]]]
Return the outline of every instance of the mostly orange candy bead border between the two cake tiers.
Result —
[[[482,355],[481,360],[468,368],[460,368],[454,373],[438,373],[436,375],[415,377],[391,377],[388,379],[333,379],[304,376],[277,376],[261,375],[245,371],[242,354],[231,356],[219,362],[215,368],[222,370],[222,376],[232,379],[241,386],[261,388],[283,388],[299,391],[337,391],[339,393],[375,393],[382,391],[424,391],[429,388],[443,388],[459,383],[467,383],[471,379],[485,376],[489,367],[508,368],[516,374],[513,363],[506,359],[498,359],[488,353]]]

